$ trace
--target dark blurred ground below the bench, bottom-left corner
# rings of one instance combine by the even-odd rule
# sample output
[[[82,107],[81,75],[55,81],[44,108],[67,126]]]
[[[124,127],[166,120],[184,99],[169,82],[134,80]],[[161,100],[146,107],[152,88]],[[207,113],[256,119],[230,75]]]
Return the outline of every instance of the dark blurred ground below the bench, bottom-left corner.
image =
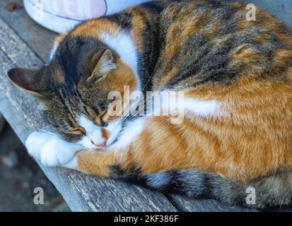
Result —
[[[0,159],[0,211],[68,210],[8,124],[0,135]],[[44,189],[45,205],[33,203],[36,187]]]

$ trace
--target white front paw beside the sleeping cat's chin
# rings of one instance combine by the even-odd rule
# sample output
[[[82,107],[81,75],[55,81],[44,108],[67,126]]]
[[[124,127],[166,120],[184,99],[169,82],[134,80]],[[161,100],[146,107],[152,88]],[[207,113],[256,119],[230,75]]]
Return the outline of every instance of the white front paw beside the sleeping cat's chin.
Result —
[[[33,132],[26,140],[28,153],[49,167],[76,167],[75,154],[83,150],[77,143],[64,141],[54,133]]]

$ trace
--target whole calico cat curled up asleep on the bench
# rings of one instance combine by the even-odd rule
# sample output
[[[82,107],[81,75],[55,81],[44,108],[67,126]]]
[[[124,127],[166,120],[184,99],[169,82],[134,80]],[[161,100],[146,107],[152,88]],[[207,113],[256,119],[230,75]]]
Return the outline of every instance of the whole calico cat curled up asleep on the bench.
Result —
[[[60,35],[48,65],[8,72],[54,129],[32,133],[28,152],[47,166],[160,191],[290,205],[292,32],[260,8],[256,20],[246,14],[240,3],[159,0]],[[126,111],[148,105],[124,87],[183,92],[182,122]],[[117,101],[127,107],[110,108]]]

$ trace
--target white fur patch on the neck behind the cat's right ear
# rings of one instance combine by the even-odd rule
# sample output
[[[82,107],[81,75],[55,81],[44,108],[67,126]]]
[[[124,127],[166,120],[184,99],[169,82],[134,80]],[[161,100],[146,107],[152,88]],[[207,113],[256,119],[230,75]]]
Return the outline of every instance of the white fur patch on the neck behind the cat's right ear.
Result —
[[[130,66],[134,71],[137,80],[138,78],[138,54],[136,46],[131,39],[130,35],[125,32],[119,31],[115,34],[102,33],[99,35],[100,40],[107,44],[108,47],[112,48],[119,54],[122,61]],[[141,82],[139,81],[138,90],[141,90]]]

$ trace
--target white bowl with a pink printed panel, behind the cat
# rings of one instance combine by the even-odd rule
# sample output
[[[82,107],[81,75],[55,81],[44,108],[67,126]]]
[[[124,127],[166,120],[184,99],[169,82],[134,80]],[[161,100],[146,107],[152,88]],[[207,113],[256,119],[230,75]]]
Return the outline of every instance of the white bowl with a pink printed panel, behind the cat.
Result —
[[[63,33],[83,20],[110,15],[151,0],[23,0],[28,15],[37,23]]]

